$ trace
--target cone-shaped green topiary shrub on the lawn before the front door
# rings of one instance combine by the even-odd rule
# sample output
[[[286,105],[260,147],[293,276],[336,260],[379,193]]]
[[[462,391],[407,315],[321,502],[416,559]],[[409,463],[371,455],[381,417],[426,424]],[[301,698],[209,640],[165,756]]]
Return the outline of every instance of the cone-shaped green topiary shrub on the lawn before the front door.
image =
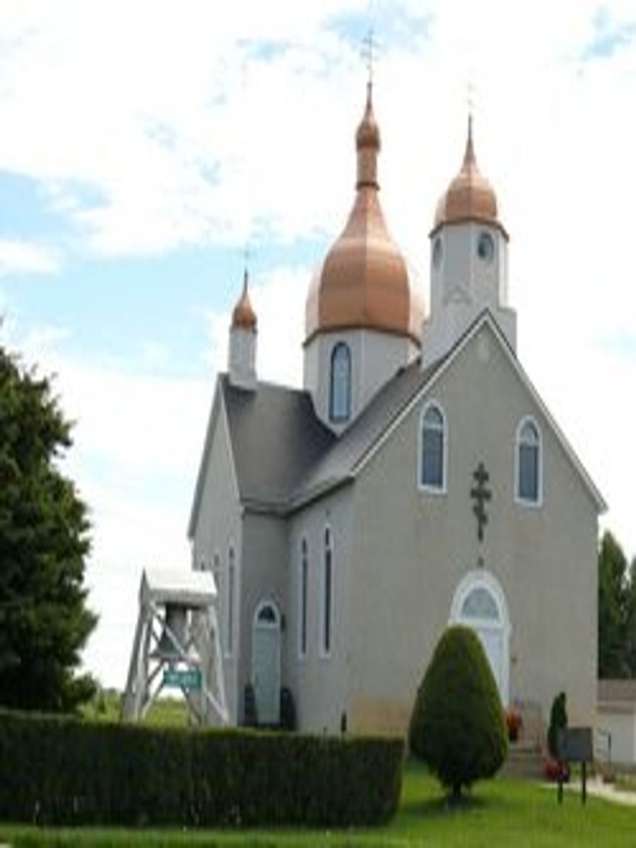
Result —
[[[411,753],[427,763],[452,798],[489,778],[508,748],[504,711],[477,635],[448,628],[417,690],[410,718]]]

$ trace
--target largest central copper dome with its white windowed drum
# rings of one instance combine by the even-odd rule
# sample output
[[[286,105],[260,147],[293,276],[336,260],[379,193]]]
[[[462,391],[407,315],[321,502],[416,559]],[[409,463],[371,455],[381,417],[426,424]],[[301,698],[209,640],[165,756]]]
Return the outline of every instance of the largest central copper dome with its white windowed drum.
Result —
[[[304,388],[317,416],[342,432],[400,366],[419,353],[423,304],[388,233],[378,198],[380,131],[371,81],[355,135],[354,206],[310,285]]]

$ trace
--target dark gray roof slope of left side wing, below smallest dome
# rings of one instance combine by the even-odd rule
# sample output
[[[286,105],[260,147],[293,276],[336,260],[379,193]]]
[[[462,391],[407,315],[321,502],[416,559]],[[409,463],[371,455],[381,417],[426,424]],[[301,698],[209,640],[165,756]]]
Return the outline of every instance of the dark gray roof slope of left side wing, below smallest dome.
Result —
[[[336,437],[315,416],[308,392],[259,382],[256,391],[220,377],[243,502],[279,507]]]

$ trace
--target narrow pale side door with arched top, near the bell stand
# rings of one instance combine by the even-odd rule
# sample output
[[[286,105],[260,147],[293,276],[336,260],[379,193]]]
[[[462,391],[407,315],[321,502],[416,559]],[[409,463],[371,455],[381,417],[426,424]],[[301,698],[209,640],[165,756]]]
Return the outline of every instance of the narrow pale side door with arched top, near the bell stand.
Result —
[[[280,719],[281,619],[271,601],[259,604],[252,630],[252,685],[259,724]]]

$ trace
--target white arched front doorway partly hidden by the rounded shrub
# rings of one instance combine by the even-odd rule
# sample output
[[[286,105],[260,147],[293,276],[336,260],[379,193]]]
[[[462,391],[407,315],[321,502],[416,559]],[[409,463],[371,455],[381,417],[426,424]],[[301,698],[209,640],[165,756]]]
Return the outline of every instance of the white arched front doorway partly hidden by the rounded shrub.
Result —
[[[490,572],[466,574],[455,590],[450,621],[472,628],[483,645],[504,706],[510,700],[510,619],[505,595]]]

